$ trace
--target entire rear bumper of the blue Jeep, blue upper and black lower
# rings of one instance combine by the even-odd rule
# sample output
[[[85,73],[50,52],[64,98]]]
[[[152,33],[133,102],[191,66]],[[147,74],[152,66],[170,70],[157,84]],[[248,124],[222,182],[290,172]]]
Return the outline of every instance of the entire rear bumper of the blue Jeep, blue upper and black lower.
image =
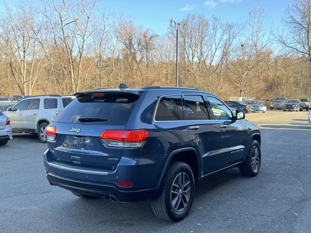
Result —
[[[129,160],[124,158],[125,161]],[[145,159],[146,160],[146,159]],[[121,161],[116,170],[88,170],[87,168],[55,165],[49,149],[44,153],[46,177],[51,185],[57,185],[82,194],[106,197],[112,195],[122,202],[148,200],[159,190],[159,180],[164,165],[160,162],[149,164],[125,164]],[[132,181],[132,187],[120,187],[117,183]]]

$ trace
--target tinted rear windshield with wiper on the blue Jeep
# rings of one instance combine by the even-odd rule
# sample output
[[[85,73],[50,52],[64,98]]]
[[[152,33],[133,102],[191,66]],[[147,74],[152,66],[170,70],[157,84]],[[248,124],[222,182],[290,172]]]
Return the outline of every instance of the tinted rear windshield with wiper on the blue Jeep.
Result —
[[[54,119],[54,122],[125,125],[138,98],[138,95],[128,93],[78,97]],[[101,118],[105,121],[81,122],[81,118]]]

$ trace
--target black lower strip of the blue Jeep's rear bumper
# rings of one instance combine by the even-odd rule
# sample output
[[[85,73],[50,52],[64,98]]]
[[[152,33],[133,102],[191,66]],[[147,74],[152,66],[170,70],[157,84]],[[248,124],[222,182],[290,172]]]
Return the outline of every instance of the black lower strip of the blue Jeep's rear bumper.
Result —
[[[97,197],[106,197],[107,195],[112,195],[116,197],[117,200],[124,202],[148,200],[154,197],[157,191],[156,188],[120,190],[113,185],[73,180],[59,177],[51,172],[47,173],[46,176],[51,185],[57,185],[70,191],[78,191],[82,194]]]

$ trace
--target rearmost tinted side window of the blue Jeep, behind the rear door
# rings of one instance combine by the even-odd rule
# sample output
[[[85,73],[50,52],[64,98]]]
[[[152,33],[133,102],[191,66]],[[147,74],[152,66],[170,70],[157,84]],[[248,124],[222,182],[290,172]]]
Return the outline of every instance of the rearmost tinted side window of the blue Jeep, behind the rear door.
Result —
[[[159,101],[155,113],[155,120],[182,120],[181,96],[164,96]]]

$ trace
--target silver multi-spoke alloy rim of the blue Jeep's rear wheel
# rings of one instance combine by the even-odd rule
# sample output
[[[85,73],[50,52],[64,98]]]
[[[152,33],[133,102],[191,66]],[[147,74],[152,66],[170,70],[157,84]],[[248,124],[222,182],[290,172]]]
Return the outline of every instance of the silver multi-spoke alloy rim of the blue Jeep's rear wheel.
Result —
[[[191,183],[185,172],[179,173],[172,184],[171,203],[176,212],[184,210],[190,200]]]

